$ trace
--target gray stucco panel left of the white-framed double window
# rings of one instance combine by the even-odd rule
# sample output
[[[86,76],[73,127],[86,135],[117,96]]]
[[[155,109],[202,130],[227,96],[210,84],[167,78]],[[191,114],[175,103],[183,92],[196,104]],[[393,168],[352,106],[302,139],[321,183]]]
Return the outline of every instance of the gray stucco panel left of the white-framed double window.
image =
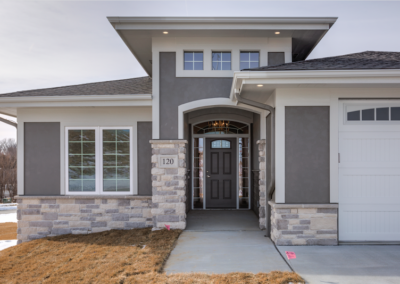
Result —
[[[60,123],[24,123],[24,194],[60,195]]]

